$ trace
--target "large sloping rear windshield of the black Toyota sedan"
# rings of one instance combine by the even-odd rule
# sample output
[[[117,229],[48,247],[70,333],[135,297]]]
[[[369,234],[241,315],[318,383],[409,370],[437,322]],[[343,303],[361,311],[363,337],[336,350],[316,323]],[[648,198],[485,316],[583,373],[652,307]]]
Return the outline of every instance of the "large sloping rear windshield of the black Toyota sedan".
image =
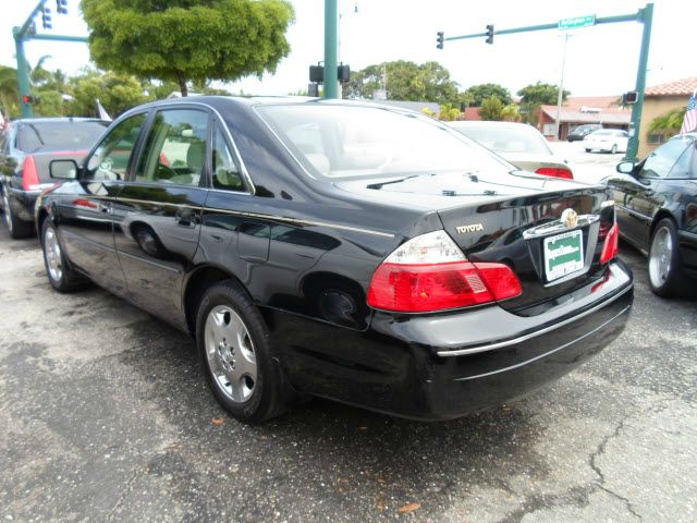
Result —
[[[258,108],[314,175],[328,179],[514,168],[426,117],[358,106]]]

